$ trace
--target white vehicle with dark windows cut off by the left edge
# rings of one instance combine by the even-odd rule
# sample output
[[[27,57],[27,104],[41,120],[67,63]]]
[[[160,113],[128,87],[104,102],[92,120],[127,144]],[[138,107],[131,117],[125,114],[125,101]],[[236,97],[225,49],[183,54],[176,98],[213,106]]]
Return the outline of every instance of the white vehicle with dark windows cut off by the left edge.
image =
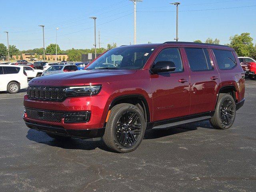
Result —
[[[28,87],[28,77],[23,66],[0,65],[0,91],[17,93]]]

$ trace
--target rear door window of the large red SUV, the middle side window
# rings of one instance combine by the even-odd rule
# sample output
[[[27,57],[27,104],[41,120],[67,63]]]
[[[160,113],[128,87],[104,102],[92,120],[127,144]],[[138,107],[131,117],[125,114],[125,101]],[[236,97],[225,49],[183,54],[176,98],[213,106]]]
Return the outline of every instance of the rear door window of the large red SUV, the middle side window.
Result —
[[[207,49],[185,48],[190,69],[192,71],[212,70],[210,56]]]

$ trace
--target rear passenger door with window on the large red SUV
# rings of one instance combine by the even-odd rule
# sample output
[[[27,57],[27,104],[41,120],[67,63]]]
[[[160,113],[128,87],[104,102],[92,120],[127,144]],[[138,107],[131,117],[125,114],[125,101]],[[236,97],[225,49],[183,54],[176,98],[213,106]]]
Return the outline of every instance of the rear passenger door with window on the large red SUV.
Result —
[[[190,114],[213,111],[220,86],[220,76],[207,48],[184,48],[190,68]]]

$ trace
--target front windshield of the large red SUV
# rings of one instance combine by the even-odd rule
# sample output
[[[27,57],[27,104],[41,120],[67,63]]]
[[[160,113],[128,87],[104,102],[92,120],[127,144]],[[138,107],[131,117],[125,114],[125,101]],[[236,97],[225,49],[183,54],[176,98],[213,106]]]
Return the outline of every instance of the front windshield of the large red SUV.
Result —
[[[86,69],[141,69],[153,51],[152,47],[115,48],[100,56]]]

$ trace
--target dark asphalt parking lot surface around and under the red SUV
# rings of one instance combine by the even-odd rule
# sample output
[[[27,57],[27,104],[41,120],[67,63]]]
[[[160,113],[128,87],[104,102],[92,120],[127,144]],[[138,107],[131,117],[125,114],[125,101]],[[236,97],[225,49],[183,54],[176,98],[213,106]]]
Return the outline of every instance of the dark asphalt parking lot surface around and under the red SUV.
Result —
[[[252,192],[256,189],[256,81],[228,130],[208,121],[150,131],[134,152],[102,141],[58,142],[28,129],[23,96],[0,93],[0,191]]]

